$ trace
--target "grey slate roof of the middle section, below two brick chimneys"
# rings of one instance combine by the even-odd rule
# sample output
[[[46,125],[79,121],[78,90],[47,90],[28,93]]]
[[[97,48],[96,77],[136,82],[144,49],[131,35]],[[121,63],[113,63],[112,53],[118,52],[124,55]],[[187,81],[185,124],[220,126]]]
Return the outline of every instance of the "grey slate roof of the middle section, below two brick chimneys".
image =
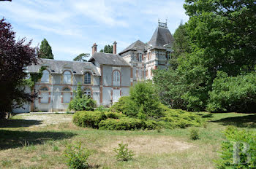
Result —
[[[129,63],[121,58],[121,56],[112,53],[94,52],[94,55],[89,59],[89,62],[93,60],[100,65],[129,66]]]

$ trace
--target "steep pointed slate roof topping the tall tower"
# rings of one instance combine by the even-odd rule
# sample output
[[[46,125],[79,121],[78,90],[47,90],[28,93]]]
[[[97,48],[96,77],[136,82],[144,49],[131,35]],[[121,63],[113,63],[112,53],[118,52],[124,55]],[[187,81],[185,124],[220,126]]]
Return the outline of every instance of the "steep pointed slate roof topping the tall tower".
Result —
[[[148,44],[157,49],[165,49],[163,47],[165,44],[173,44],[173,36],[167,27],[158,26],[156,31],[154,31]]]

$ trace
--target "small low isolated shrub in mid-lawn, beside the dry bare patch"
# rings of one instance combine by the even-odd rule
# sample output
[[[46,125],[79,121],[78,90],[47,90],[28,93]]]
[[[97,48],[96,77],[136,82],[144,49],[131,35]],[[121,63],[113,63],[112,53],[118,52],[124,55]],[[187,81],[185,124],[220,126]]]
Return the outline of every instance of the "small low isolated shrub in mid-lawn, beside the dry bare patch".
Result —
[[[128,161],[133,159],[132,150],[128,149],[128,144],[118,144],[118,147],[114,148],[114,152],[116,152],[116,159],[119,161]]]

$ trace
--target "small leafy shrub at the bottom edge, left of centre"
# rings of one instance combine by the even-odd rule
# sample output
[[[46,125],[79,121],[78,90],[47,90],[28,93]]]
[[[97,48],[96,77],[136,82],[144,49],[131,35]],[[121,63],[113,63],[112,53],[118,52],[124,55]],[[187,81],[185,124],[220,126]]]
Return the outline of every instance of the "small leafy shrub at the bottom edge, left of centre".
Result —
[[[81,143],[67,145],[64,156],[67,157],[67,165],[69,168],[83,169],[89,168],[88,158],[90,152],[88,149],[82,149]]]

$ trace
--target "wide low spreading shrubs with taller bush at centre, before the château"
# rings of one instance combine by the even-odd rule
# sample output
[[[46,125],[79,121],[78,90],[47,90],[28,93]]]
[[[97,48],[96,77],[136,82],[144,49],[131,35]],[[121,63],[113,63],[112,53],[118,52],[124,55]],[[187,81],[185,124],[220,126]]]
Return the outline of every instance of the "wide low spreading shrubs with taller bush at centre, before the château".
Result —
[[[73,122],[101,130],[154,130],[200,126],[203,119],[194,113],[168,109],[160,103],[151,82],[138,82],[130,96],[121,97],[110,111],[78,111]]]

